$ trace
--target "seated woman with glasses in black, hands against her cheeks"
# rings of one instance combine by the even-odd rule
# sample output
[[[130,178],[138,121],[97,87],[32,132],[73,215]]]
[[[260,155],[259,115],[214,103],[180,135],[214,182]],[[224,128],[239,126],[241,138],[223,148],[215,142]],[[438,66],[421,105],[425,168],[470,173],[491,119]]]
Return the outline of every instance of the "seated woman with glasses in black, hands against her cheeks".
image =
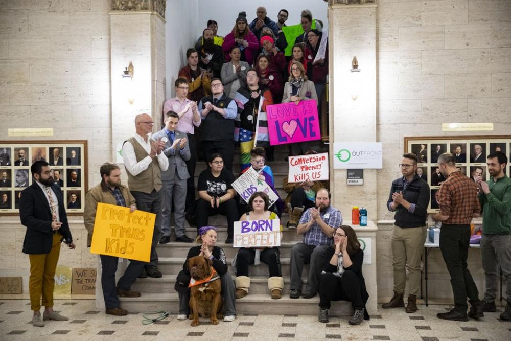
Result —
[[[328,311],[332,301],[349,301],[355,310],[348,321],[359,325],[369,320],[365,304],[369,294],[362,275],[364,252],[353,228],[341,225],[334,233],[334,245],[324,255],[327,259],[319,278],[318,321],[329,322]]]

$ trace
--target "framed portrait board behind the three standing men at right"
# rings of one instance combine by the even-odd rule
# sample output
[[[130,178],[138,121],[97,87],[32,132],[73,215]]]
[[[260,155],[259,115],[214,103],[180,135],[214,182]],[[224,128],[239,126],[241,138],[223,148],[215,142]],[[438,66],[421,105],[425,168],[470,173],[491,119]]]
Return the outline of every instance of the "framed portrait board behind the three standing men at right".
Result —
[[[417,155],[417,174],[424,178],[431,189],[428,213],[438,212],[435,193],[445,181],[437,167],[438,156],[450,152],[456,158],[456,168],[463,174],[473,180],[476,176],[488,180],[490,174],[487,172],[486,156],[496,151],[503,152],[509,160],[511,136],[405,137],[405,153]],[[510,167],[507,163],[506,174],[510,173]]]

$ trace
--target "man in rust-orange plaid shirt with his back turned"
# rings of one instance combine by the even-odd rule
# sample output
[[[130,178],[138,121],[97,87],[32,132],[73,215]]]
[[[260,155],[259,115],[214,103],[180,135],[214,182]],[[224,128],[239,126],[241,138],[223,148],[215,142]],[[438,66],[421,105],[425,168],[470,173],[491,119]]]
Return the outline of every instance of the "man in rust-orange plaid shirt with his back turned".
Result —
[[[467,268],[470,242],[470,222],[478,217],[481,206],[477,198],[477,186],[469,177],[456,170],[456,159],[451,153],[438,157],[440,172],[447,178],[438,190],[440,212],[433,219],[442,221],[440,251],[451,276],[454,308],[436,316],[443,320],[468,321],[468,317],[483,317],[479,291]],[[467,317],[467,297],[471,304]]]

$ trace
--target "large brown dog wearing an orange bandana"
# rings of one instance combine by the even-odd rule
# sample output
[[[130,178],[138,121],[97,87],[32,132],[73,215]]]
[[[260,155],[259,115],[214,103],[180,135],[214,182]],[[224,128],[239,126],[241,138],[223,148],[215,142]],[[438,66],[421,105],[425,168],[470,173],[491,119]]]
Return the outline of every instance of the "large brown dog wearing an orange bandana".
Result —
[[[188,260],[188,270],[192,276],[190,295],[190,316],[193,321],[192,327],[199,325],[199,315],[210,317],[212,325],[218,324],[218,318],[222,318],[222,284],[220,277],[216,275],[210,259],[203,256],[195,256]],[[213,273],[214,272],[214,273]],[[215,279],[216,278],[216,279]],[[192,283],[196,281],[196,283]],[[200,283],[200,284],[197,284]]]

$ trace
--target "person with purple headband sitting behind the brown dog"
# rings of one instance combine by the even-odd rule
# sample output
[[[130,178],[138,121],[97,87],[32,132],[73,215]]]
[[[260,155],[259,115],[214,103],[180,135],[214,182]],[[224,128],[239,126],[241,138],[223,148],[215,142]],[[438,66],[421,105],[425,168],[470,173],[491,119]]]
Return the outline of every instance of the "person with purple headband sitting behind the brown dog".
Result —
[[[216,246],[217,228],[215,226],[202,226],[199,228],[197,236],[197,246],[190,248],[187,259],[184,261],[183,269],[177,275],[176,285],[174,288],[179,294],[179,314],[178,320],[187,320],[190,314],[190,271],[188,271],[188,260],[195,256],[203,256],[209,258],[213,263],[213,268],[220,275],[222,282],[222,298],[224,300],[225,317],[224,322],[231,322],[236,319],[236,292],[233,277],[231,276],[225,252],[221,247]]]

